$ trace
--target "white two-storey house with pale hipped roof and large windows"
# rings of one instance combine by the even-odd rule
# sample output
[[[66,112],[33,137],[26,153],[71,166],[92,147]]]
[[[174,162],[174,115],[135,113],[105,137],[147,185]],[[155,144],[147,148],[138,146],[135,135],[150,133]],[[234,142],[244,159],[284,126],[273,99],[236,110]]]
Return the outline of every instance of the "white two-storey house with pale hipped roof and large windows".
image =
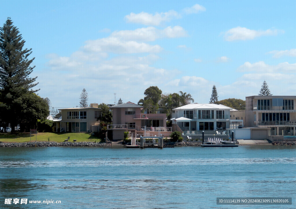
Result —
[[[173,109],[172,121],[182,131],[204,131],[205,134],[243,127],[243,120],[230,119],[231,110],[233,108],[218,104],[188,104]]]

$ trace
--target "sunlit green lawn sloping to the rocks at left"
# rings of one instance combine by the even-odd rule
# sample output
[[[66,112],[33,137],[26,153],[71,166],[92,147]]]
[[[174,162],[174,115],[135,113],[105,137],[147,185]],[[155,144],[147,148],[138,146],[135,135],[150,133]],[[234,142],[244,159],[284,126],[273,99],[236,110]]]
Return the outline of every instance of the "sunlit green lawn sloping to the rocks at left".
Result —
[[[63,142],[65,139],[70,137],[70,142],[76,139],[77,142],[99,142],[98,137],[89,135],[88,133],[51,133],[51,132],[40,132],[37,134],[37,141],[48,142]],[[36,140],[36,135],[31,135],[31,140]],[[30,142],[30,133],[0,133],[1,142]]]

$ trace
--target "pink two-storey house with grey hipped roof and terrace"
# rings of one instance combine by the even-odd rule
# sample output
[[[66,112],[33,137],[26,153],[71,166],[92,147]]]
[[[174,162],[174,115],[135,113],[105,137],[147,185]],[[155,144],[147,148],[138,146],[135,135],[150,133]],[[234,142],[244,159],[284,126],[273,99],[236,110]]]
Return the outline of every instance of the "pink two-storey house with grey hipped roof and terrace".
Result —
[[[113,132],[113,140],[122,140],[123,132],[130,131],[133,136],[146,134],[146,136],[163,135],[168,137],[172,131],[166,127],[166,114],[141,113],[143,106],[132,102],[110,107],[113,112],[113,125],[108,130]],[[146,129],[145,129],[146,127]]]

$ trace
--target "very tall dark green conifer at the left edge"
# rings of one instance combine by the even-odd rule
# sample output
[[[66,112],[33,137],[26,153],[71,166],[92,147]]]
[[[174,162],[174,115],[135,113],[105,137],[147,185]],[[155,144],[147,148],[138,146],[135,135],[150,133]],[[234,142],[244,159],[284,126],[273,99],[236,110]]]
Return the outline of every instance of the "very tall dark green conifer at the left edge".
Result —
[[[34,58],[28,59],[32,49],[23,49],[25,40],[19,33],[10,18],[0,28],[0,114],[2,120],[11,124],[12,132],[19,117],[15,110],[21,108],[19,98],[38,91],[32,90],[38,84],[34,84],[37,77],[29,77],[35,67],[30,67]]]

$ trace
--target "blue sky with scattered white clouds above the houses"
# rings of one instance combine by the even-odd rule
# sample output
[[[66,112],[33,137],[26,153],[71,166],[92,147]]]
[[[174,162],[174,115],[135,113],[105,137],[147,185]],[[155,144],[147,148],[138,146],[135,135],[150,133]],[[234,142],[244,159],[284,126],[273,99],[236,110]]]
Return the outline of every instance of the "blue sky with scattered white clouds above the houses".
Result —
[[[56,108],[137,103],[157,85],[208,103],[296,92],[296,1],[4,1]]]

